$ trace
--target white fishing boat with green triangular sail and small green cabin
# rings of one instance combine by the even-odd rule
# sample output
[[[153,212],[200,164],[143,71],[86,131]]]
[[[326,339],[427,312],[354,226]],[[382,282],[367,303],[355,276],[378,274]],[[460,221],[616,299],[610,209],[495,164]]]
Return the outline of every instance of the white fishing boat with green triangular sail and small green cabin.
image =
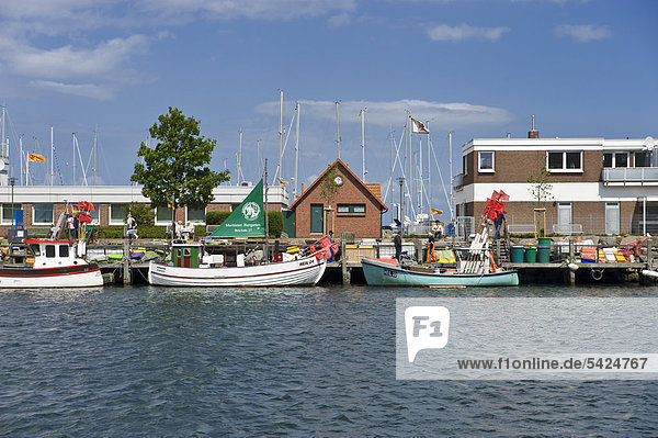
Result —
[[[266,173],[265,173],[266,178]],[[265,187],[266,200],[266,187]],[[171,245],[171,262],[151,261],[148,282],[169,287],[272,287],[316,284],[325,273],[327,260],[337,250],[329,237],[297,254],[269,255],[268,222],[263,209],[261,180],[242,203],[217,227],[211,237],[265,237],[261,257],[206,252],[205,245],[181,242]]]

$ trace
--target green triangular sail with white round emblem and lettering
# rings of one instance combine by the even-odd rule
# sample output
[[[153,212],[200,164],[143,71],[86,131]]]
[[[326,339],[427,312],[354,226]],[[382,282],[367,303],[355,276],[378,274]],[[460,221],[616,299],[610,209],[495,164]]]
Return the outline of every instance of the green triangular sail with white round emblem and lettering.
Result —
[[[217,227],[211,237],[260,237],[265,235],[263,181],[261,180],[240,206]]]

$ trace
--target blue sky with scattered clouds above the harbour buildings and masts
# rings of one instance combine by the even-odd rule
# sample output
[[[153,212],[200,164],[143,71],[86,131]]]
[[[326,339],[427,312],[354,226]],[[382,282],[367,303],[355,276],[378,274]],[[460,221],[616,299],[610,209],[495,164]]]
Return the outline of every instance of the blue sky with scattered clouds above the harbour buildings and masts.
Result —
[[[407,111],[427,123],[434,155],[412,135],[409,160],[422,142],[432,206],[446,209],[450,132],[454,173],[463,144],[525,137],[532,114],[542,137],[658,137],[657,19],[654,0],[2,0],[11,171],[20,136],[49,159],[53,126],[56,184],[73,182],[72,133],[75,183],[81,167],[92,183],[94,132],[95,183],[129,184],[140,142],[173,106],[217,141],[211,166],[232,183],[241,131],[242,173],[257,181],[265,157],[276,172],[283,90],[291,191],[296,102],[306,187],[338,156],[340,102],[341,159],[361,177],[364,109],[365,179],[383,191]],[[37,184],[48,167],[32,165]]]

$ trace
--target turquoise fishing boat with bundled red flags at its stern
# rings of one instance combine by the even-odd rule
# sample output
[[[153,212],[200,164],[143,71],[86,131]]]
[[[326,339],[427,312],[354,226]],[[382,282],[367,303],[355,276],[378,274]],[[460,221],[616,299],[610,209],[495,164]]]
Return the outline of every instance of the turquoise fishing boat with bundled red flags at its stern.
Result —
[[[509,196],[494,191],[481,215],[481,232],[468,248],[456,250],[456,269],[402,266],[398,260],[362,259],[363,274],[370,285],[466,288],[519,285],[519,273],[494,261],[489,248],[489,226],[504,213],[502,201]]]

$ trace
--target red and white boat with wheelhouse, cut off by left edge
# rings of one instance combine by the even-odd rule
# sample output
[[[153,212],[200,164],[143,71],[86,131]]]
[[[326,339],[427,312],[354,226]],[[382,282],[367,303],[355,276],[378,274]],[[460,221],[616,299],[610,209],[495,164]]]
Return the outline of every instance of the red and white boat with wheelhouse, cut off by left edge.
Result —
[[[11,263],[0,265],[0,288],[95,288],[103,285],[97,263],[78,256],[76,242],[25,239]],[[18,261],[18,262],[16,262]]]

